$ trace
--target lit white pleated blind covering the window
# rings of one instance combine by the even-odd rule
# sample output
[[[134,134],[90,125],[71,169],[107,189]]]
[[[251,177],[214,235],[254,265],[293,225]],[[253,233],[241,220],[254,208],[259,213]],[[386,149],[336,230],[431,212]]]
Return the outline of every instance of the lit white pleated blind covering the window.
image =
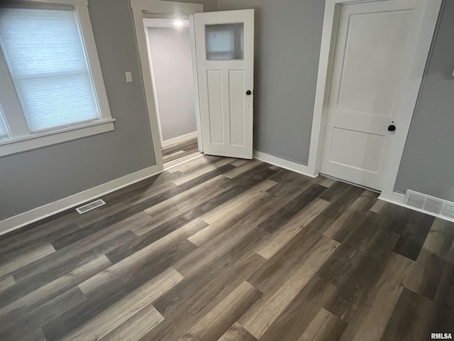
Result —
[[[31,133],[99,120],[72,9],[2,9],[0,40]]]

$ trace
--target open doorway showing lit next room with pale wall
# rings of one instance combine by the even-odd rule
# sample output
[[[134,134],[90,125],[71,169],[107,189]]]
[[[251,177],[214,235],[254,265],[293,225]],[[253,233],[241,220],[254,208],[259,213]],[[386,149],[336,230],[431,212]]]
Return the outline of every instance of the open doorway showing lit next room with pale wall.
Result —
[[[199,152],[189,16],[143,14],[164,168]]]

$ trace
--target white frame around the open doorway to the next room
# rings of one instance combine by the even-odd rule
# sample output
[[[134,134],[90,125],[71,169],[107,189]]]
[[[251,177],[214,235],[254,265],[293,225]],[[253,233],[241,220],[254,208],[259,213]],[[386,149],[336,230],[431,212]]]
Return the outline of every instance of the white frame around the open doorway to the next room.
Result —
[[[164,169],[164,163],[162,162],[160,125],[158,121],[159,117],[157,115],[157,98],[153,87],[153,78],[151,76],[150,59],[148,58],[148,41],[145,36],[143,11],[157,14],[182,14],[189,17],[189,39],[191,42],[192,73],[194,78],[194,105],[196,109],[197,141],[199,144],[199,151],[203,153],[200,124],[199,80],[197,78],[196,63],[196,40],[194,35],[194,13],[202,13],[204,11],[204,6],[202,4],[163,0],[130,0],[130,4],[133,12],[135,39],[140,60],[140,71],[142,72],[143,86],[145,90],[145,101],[147,102],[148,118],[150,121],[156,166],[159,171],[162,171]]]

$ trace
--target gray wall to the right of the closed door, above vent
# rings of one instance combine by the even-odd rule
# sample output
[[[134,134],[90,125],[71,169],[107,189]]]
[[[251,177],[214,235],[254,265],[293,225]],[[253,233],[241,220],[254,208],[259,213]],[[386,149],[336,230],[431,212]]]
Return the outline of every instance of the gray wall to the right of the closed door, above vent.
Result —
[[[454,0],[444,4],[395,190],[454,201]]]

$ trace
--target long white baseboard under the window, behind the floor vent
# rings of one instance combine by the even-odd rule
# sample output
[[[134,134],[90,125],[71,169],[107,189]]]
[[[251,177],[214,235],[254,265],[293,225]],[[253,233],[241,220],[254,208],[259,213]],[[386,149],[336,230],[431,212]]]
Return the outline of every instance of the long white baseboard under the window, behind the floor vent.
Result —
[[[109,183],[103,183],[102,185],[90,188],[89,190],[84,190],[83,192],[70,195],[69,197],[51,202],[50,204],[34,208],[33,210],[21,213],[20,215],[15,215],[14,217],[10,217],[6,220],[2,220],[0,222],[0,235],[31,224],[32,222],[37,222],[38,220],[50,217],[51,215],[55,215],[58,212],[62,212],[84,202],[94,200],[101,195],[114,192],[120,188],[137,183],[140,180],[150,178],[161,171],[162,170],[160,170],[158,166],[145,168],[141,171],[123,176],[122,178],[109,181]]]

